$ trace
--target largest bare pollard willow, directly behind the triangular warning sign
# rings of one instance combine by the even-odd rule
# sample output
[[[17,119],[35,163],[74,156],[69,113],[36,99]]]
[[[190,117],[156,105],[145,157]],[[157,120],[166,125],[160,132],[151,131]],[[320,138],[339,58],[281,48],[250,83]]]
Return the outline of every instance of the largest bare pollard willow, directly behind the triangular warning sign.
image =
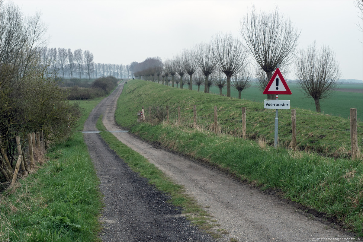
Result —
[[[266,73],[268,80],[272,78],[277,64],[288,66],[293,61],[300,32],[295,30],[291,21],[285,19],[278,9],[274,12],[251,13],[241,21],[240,33],[245,41],[248,52],[257,62],[261,71]],[[261,91],[262,85],[258,86]],[[267,95],[268,99],[276,95]]]

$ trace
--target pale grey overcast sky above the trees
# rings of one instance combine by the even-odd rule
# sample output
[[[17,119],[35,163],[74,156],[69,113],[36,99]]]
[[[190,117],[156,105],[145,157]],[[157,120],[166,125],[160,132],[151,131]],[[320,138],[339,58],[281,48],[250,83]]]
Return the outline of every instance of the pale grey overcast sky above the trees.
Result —
[[[162,60],[208,42],[217,33],[239,33],[254,5],[274,11],[301,29],[298,49],[316,41],[334,49],[344,79],[363,79],[362,26],[354,1],[13,1],[25,15],[42,13],[48,47],[89,50],[96,63]],[[291,67],[290,69],[293,69]],[[287,78],[294,78],[293,73]],[[287,79],[285,78],[285,79]]]

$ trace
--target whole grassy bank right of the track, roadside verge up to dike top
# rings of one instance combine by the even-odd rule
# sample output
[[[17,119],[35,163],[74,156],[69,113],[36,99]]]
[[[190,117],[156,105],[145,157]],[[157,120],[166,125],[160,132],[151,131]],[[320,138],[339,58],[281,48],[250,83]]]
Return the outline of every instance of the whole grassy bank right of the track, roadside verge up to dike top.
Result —
[[[191,128],[194,104],[198,128]],[[145,106],[147,117],[148,105],[169,105],[170,124],[137,123],[136,112]],[[181,106],[182,124],[176,122],[178,106]],[[219,134],[208,131],[213,123],[214,106],[218,107]],[[246,107],[248,137],[259,142],[230,135],[240,135],[241,107]],[[280,111],[280,145],[287,146],[291,136],[290,110]],[[297,120],[298,146],[307,150],[302,152],[270,147],[274,110],[264,110],[261,103],[246,100],[135,80],[125,85],[115,116],[121,126],[145,140],[203,160],[261,189],[279,190],[290,200],[338,218],[362,236],[362,158],[343,159],[348,157],[350,147],[350,133],[346,131],[349,121],[298,108],[297,113],[304,114]],[[362,122],[359,126],[361,152]],[[324,157],[311,150],[340,158]]]

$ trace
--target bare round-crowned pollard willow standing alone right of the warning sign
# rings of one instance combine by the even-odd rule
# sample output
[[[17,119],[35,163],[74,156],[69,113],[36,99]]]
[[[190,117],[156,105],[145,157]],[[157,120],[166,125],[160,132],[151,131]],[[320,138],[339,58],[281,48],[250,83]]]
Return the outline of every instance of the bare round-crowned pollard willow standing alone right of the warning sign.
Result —
[[[314,98],[317,112],[320,99],[329,98],[339,86],[341,76],[335,54],[328,46],[322,45],[319,52],[315,42],[306,50],[301,50],[296,61],[297,84],[307,97]]]

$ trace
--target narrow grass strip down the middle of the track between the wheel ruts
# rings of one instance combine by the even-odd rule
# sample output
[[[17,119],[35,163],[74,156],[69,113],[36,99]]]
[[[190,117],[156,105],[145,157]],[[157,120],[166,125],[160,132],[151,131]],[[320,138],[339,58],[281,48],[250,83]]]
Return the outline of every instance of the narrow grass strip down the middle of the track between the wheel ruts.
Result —
[[[98,119],[96,128],[98,130],[106,130],[102,123],[102,116]],[[185,193],[183,186],[175,184],[154,164],[151,164],[145,157],[123,144],[110,132],[101,132],[100,135],[110,148],[129,165],[132,171],[138,172],[140,176],[146,177],[148,182],[160,191],[168,193],[171,196],[169,202],[183,208],[183,213],[192,221],[193,225],[199,226],[214,238],[220,238],[221,233],[225,233],[222,230],[218,231],[218,233],[210,230],[215,226],[219,226],[219,224],[216,223],[213,216],[203,210],[191,196]]]

